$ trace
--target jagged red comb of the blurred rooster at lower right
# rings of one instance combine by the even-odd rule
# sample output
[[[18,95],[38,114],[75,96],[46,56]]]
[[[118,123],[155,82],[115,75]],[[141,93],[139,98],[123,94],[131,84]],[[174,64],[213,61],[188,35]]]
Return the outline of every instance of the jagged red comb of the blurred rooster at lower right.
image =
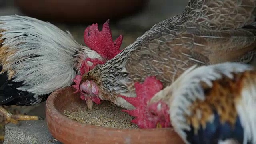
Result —
[[[135,91],[137,94],[137,97],[126,97],[121,96],[124,98],[127,102],[132,104],[135,109],[134,110],[122,110],[123,112],[127,112],[131,116],[134,116],[135,119],[132,120],[133,123],[138,124],[140,128],[144,128],[145,126],[145,106],[147,105],[147,102],[160,90],[162,90],[163,85],[160,80],[157,80],[155,76],[151,76],[146,78],[146,80],[140,84],[136,82],[134,84]]]

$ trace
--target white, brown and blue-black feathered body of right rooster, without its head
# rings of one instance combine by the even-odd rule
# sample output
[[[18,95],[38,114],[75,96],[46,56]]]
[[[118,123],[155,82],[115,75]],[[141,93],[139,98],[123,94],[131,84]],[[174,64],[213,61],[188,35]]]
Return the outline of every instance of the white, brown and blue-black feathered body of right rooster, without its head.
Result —
[[[170,120],[184,142],[256,143],[254,67],[202,66],[177,80],[172,90]]]

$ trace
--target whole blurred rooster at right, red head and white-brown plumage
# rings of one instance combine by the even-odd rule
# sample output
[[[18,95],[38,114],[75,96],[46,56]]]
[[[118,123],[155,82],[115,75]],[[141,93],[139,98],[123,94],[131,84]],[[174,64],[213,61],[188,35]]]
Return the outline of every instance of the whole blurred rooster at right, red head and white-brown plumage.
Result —
[[[256,143],[253,66],[192,66],[163,90],[157,82],[146,78],[142,88],[136,88],[139,98],[128,99],[137,108],[125,111],[136,116],[132,122],[140,128],[172,126],[187,144]],[[145,89],[148,83],[154,83],[148,88],[154,94]]]

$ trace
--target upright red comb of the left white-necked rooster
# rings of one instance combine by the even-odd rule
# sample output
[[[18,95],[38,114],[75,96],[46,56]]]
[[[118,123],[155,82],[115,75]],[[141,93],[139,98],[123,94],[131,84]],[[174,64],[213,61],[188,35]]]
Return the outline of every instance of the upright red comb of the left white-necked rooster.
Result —
[[[109,20],[103,24],[102,31],[99,31],[97,23],[88,26],[84,30],[84,43],[107,60],[114,58],[121,52],[119,49],[122,40],[123,36],[120,35],[113,42]]]

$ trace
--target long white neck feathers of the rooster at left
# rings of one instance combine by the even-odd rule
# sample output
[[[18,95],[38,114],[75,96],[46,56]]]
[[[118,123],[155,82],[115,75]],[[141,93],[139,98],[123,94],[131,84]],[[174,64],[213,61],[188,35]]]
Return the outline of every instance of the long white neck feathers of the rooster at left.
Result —
[[[24,16],[1,16],[3,47],[15,50],[8,57],[8,68],[15,71],[14,81],[23,82],[19,90],[36,96],[72,84],[76,75],[76,52],[83,58],[100,58],[90,48],[78,44],[69,32],[41,20]],[[38,56],[29,58],[31,56]]]

